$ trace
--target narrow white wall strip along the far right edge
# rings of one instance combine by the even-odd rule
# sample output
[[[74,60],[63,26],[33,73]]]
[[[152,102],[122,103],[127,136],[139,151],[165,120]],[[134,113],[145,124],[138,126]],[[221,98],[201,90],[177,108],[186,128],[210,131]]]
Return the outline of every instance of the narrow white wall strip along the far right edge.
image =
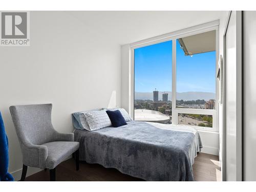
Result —
[[[256,181],[256,11],[243,11],[243,180]]]

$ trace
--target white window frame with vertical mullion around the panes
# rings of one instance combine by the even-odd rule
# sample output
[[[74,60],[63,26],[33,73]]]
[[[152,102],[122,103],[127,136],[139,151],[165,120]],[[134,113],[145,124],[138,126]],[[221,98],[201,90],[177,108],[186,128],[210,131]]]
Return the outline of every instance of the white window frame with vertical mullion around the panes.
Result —
[[[200,115],[212,115],[212,127],[201,127],[201,126],[193,126],[197,130],[202,131],[210,131],[210,132],[218,132],[218,120],[219,120],[219,84],[216,77],[216,109],[209,110],[209,109],[185,109],[185,108],[176,108],[176,40],[178,38],[196,35],[199,33],[204,33],[208,31],[216,30],[216,73],[218,72],[218,55],[219,55],[219,20],[214,22],[209,22],[206,24],[190,27],[187,29],[179,30],[172,33],[167,33],[164,35],[156,36],[153,38],[141,40],[138,42],[134,42],[130,44],[130,109],[131,109],[131,116],[134,117],[134,88],[135,88],[135,80],[134,80],[134,50],[141,47],[146,47],[154,44],[158,44],[160,42],[172,40],[173,44],[173,53],[172,53],[172,123],[178,124],[178,114],[179,113],[186,113],[186,114],[200,114]]]

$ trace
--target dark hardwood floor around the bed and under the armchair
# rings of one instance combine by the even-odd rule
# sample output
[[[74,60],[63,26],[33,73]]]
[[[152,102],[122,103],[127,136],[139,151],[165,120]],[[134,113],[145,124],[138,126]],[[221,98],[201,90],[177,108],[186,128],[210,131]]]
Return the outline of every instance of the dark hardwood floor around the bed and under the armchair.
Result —
[[[200,153],[193,165],[196,181],[220,181],[219,157]],[[49,181],[49,170],[42,170],[26,178],[26,181]],[[124,175],[114,168],[104,168],[99,164],[80,163],[76,171],[75,160],[69,159],[56,167],[56,181],[143,181]]]

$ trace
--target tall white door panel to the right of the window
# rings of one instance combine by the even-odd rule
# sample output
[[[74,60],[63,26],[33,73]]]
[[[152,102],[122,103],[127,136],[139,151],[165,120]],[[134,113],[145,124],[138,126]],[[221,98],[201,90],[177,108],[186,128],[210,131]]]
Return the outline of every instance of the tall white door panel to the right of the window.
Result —
[[[242,13],[232,11],[224,35],[226,180],[242,180]]]

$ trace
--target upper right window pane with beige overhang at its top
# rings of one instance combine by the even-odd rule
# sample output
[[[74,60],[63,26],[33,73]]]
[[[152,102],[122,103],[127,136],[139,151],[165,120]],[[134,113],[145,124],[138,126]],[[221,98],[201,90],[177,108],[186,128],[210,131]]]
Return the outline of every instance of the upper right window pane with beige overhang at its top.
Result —
[[[176,40],[176,108],[215,109],[215,31],[207,33]]]

